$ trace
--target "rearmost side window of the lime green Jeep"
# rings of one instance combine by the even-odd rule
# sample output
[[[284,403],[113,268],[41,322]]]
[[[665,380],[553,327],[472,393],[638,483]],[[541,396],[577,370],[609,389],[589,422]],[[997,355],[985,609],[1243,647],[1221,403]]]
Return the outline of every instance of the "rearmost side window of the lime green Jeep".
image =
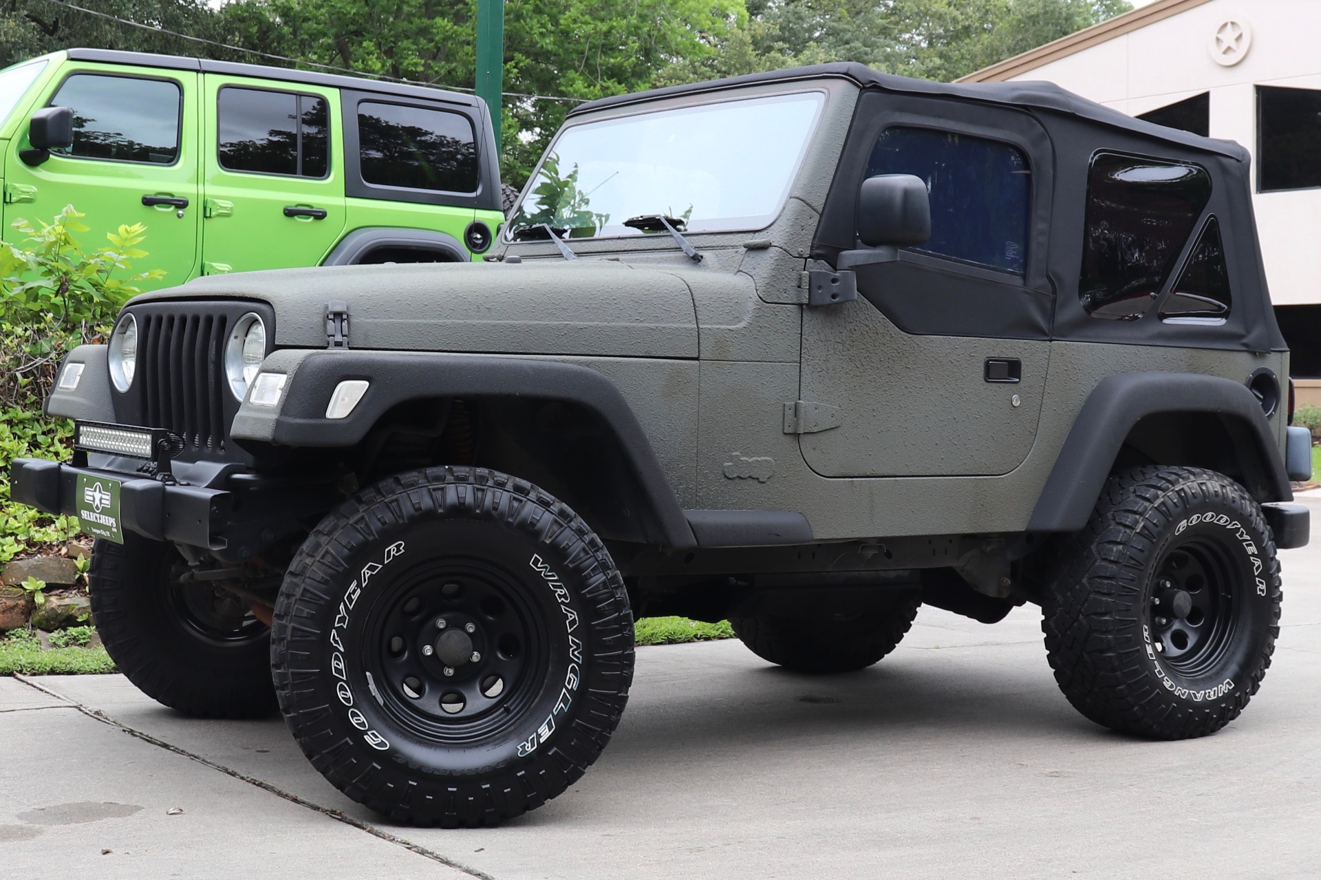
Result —
[[[465,116],[443,110],[358,104],[362,178],[380,186],[477,192],[477,147]]]

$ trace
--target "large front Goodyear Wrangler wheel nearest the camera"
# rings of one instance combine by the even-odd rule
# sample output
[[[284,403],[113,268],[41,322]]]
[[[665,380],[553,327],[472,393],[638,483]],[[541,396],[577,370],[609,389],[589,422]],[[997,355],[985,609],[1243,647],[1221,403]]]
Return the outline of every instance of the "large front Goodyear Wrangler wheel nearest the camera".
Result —
[[[271,663],[336,788],[399,822],[491,825],[556,797],[627,702],[633,617],[600,539],[493,470],[384,480],[289,567]]]

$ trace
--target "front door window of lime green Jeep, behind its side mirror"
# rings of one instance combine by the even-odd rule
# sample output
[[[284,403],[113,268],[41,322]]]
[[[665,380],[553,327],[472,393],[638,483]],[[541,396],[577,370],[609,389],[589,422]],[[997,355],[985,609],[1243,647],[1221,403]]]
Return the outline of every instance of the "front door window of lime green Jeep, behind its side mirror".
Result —
[[[172,165],[178,159],[181,100],[173,82],[75,74],[50,99],[53,107],[74,111],[74,144],[58,152]]]

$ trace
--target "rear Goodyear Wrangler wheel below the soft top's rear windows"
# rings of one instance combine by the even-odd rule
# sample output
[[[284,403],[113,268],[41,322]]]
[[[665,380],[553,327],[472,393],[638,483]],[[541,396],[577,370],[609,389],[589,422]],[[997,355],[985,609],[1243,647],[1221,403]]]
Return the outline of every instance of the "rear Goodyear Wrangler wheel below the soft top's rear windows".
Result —
[[[1238,717],[1271,665],[1281,597],[1271,530],[1240,485],[1196,468],[1116,474],[1061,559],[1042,629],[1079,712],[1165,740]]]

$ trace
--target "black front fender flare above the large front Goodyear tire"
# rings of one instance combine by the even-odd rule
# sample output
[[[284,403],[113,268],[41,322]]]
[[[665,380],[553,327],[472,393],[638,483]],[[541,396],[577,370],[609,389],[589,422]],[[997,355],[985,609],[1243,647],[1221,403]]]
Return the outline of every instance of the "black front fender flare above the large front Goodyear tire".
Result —
[[[614,383],[596,370],[535,358],[328,349],[276,351],[263,371],[279,373],[285,365],[289,379],[280,406],[244,402],[230,431],[235,440],[351,447],[388,410],[410,400],[501,396],[573,403],[614,432],[647,507],[641,513],[649,538],[668,547],[697,546],[646,431]],[[328,419],[330,395],[347,379],[366,379],[367,391],[347,418]]]

